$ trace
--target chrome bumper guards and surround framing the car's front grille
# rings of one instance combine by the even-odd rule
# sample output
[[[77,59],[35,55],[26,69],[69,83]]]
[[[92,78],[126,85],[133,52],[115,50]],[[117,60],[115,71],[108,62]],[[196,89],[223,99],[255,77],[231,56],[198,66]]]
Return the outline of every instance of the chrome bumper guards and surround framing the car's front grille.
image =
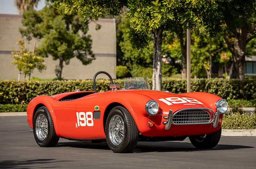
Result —
[[[208,111],[212,111],[213,113],[213,119],[210,122],[207,123],[188,123],[188,124],[175,124],[175,125],[191,125],[191,124],[211,124],[213,123],[212,127],[216,128],[218,126],[219,123],[219,117],[220,117],[220,111],[219,109],[217,109],[217,112],[214,112],[212,109],[207,109],[207,108],[187,108],[187,109],[181,109],[179,111],[176,111],[175,113],[172,114],[172,109],[170,109],[168,116],[164,116],[164,119],[167,119],[166,121],[163,122],[163,124],[165,125],[165,130],[169,130],[171,128],[171,125],[174,124],[172,122],[172,117],[175,116],[175,114],[177,114],[180,111],[184,111],[184,110],[195,110],[195,109],[201,109],[201,110],[208,110]]]

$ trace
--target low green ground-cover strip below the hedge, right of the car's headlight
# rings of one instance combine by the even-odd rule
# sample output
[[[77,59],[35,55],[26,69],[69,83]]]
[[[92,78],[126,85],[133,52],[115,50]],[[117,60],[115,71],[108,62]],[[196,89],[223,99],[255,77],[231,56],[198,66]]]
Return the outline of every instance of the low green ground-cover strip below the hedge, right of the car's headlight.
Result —
[[[227,100],[228,107],[256,107],[256,99],[245,100],[245,99],[229,99]]]

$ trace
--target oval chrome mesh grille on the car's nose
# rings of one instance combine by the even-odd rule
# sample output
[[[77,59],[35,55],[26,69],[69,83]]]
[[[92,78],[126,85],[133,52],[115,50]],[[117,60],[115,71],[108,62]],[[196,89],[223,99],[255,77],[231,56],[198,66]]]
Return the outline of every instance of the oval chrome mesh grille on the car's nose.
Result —
[[[173,124],[204,124],[211,122],[211,115],[202,109],[187,109],[173,114]]]

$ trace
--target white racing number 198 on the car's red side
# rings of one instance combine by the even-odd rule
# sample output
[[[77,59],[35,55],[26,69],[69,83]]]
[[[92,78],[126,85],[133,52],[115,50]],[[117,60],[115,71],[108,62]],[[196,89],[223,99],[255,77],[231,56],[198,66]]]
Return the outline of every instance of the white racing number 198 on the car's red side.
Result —
[[[93,126],[92,112],[76,112],[77,127],[80,126]]]

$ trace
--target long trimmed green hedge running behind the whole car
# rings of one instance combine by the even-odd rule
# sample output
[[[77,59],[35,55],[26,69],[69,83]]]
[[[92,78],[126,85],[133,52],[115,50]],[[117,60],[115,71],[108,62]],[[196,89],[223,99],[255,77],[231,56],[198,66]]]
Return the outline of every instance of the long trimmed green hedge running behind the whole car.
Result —
[[[152,86],[152,81],[150,80]],[[123,80],[114,80],[121,87]],[[97,80],[97,90],[108,90],[109,80]],[[173,93],[185,93],[187,82],[181,79],[163,79],[162,89]],[[80,90],[93,91],[92,80],[76,81],[0,81],[0,104],[28,104],[39,95],[54,95],[64,92]],[[192,79],[191,91],[208,92],[224,99],[256,98],[256,81],[252,79]]]

